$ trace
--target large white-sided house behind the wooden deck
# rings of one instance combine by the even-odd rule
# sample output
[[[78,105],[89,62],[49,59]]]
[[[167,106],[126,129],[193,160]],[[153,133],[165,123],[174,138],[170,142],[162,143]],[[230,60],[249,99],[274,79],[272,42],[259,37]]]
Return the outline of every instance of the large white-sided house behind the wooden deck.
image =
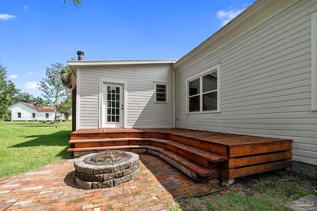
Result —
[[[68,61],[76,129],[180,127],[293,140],[317,178],[317,1],[258,0],[179,60]]]

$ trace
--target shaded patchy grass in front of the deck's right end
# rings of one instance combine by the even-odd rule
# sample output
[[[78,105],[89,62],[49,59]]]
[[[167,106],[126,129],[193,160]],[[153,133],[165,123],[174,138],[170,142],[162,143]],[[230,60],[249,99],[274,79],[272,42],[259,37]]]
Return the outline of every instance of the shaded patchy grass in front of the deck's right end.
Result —
[[[292,178],[294,180],[281,180]],[[175,202],[168,211],[291,211],[285,205],[316,195],[317,181],[277,170],[236,179],[228,193],[189,197]]]

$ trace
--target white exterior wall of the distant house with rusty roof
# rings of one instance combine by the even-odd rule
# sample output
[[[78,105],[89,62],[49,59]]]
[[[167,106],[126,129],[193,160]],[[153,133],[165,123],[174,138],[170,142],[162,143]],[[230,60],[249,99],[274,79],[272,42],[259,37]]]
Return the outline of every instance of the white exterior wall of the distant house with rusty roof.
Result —
[[[52,111],[37,111],[22,103],[17,103],[9,107],[11,110],[12,121],[54,121],[55,112]],[[21,113],[21,118],[18,118],[18,113]],[[35,113],[35,118],[32,114]],[[49,114],[49,118],[46,118],[46,114]]]

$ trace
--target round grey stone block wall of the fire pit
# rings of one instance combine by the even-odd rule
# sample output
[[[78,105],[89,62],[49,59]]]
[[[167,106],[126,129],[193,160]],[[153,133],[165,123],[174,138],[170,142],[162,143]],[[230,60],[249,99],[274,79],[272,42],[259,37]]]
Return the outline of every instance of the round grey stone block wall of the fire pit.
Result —
[[[112,163],[93,163],[89,154],[74,161],[75,183],[83,189],[108,188],[132,180],[139,175],[139,155],[126,153],[126,159]]]

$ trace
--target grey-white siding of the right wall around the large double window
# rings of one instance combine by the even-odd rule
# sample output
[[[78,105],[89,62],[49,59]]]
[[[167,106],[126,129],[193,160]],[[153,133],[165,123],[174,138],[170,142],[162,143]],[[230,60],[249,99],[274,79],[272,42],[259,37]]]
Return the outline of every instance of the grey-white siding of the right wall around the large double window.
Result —
[[[178,127],[293,139],[293,160],[317,165],[317,112],[311,111],[311,12],[317,1],[275,2],[281,5],[249,28],[176,62]],[[186,114],[186,79],[219,62],[221,112]]]

